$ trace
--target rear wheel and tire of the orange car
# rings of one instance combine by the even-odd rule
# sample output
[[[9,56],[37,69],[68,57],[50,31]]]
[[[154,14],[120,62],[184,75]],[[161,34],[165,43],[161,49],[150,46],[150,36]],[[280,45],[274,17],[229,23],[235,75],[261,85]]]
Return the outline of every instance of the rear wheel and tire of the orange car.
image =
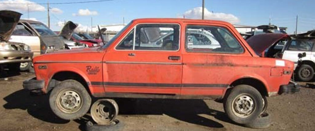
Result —
[[[264,106],[263,98],[261,94],[259,93],[259,91],[256,90],[254,87],[250,85],[237,85],[236,87],[232,88],[231,91],[226,95],[227,96],[224,99],[223,107],[224,107],[225,113],[232,121],[236,123],[240,123],[240,124],[249,123],[255,120],[261,114],[263,106]],[[233,103],[235,101],[238,101],[237,103],[241,103],[242,105],[239,105],[239,106],[234,105]],[[243,106],[246,106],[246,107],[243,107]],[[244,112],[237,111],[237,109],[235,108],[252,108],[252,109],[248,110],[249,113],[244,113]],[[245,115],[245,116],[242,116],[242,115]]]

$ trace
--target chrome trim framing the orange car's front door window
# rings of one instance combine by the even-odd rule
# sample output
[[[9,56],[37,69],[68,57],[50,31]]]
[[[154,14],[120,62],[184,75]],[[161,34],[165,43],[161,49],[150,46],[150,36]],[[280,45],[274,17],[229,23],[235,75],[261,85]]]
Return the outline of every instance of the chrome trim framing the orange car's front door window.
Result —
[[[169,25],[179,25],[179,36],[178,36],[178,49],[177,50],[175,50],[175,51],[169,51],[169,50],[135,50],[135,36],[136,36],[136,27],[138,26],[138,25],[144,25],[144,24],[169,24]],[[122,42],[123,41],[123,39],[125,39],[126,37],[127,37],[127,35],[129,35],[129,33],[133,30],[133,29],[135,29],[134,30],[134,43],[133,43],[133,49],[132,50],[117,50],[116,49],[116,47],[120,44],[120,42]],[[134,27],[132,27],[127,33],[126,33],[126,35],[124,35],[122,38],[121,38],[121,40],[120,41],[118,41],[117,42],[117,44],[115,45],[115,47],[114,47],[114,50],[115,51],[153,51],[153,52],[178,52],[178,51],[180,51],[180,37],[181,36],[181,25],[179,24],[179,23],[138,23],[138,24],[136,24]]]

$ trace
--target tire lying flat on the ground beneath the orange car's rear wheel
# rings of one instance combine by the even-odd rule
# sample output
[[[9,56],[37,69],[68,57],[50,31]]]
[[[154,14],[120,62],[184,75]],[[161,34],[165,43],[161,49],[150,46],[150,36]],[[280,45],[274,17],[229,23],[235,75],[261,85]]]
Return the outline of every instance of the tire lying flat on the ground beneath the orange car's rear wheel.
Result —
[[[267,112],[262,113],[258,118],[256,118],[253,122],[243,124],[244,127],[248,128],[267,128],[271,124],[270,115]]]

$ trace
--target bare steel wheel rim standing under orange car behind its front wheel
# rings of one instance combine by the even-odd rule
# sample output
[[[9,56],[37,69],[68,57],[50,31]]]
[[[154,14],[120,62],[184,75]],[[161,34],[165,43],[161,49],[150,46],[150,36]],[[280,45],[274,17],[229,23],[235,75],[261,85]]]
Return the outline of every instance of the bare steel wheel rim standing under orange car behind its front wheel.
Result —
[[[106,99],[96,101],[91,107],[91,117],[100,125],[109,125],[116,118],[117,104]]]

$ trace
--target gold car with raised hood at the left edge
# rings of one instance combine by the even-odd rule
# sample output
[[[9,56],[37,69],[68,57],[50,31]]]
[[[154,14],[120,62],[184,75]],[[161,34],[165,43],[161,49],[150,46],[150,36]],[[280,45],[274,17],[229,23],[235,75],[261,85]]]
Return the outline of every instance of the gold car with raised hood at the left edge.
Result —
[[[9,38],[22,14],[9,10],[0,11],[0,72],[3,68],[19,70],[20,63],[31,62],[30,46],[9,42]]]

